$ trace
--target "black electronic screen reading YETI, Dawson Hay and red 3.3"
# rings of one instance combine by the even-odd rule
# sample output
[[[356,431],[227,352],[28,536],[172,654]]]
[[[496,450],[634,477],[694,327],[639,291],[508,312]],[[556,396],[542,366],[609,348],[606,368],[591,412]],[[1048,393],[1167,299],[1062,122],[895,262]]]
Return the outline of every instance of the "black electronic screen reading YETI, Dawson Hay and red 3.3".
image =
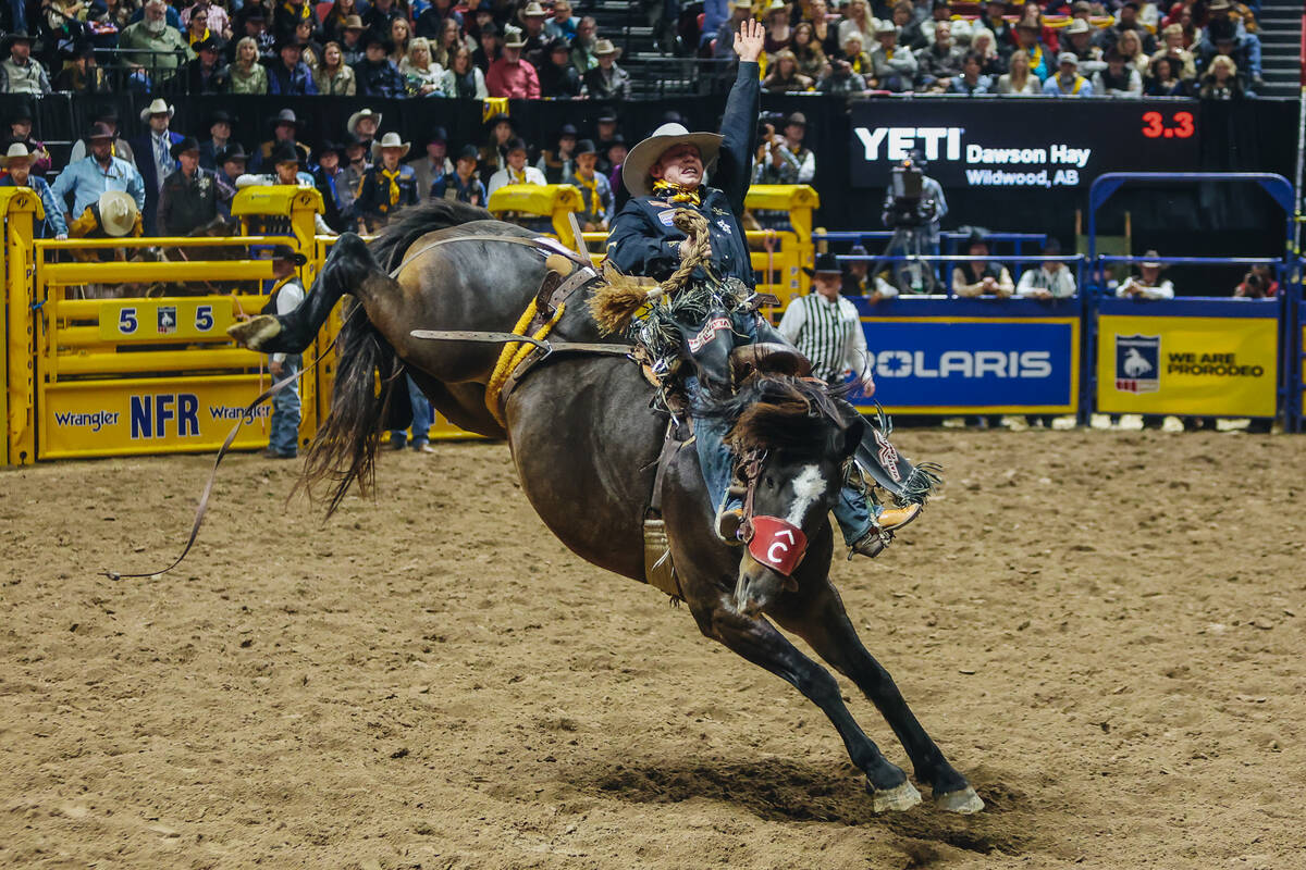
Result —
[[[884,188],[919,150],[944,188],[1088,188],[1105,172],[1199,168],[1198,104],[1070,98],[853,104],[854,187]]]

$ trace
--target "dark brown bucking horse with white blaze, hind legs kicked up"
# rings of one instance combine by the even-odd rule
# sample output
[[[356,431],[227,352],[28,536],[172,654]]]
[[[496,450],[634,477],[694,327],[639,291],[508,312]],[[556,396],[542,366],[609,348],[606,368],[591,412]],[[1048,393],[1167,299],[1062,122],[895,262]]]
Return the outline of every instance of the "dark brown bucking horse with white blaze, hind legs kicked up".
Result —
[[[727,547],[713,532],[695,451],[666,437],[666,413],[650,402],[654,389],[624,352],[631,348],[605,343],[584,303],[586,279],[602,280],[588,266],[482,209],[434,202],[407,211],[371,247],[341,236],[299,309],[239,323],[232,335],[252,350],[300,352],[342,296],[353,297],[337,338],[330,412],[304,466],[310,487],[333,484],[328,513],[351,485],[366,490],[374,481],[381,432],[396,424],[387,417],[406,402],[407,372],[453,424],[507,438],[545,524],[599,567],[646,582],[645,519],[657,490],[678,597],[699,630],[821,708],[866,773],[875,811],[910,809],[921,793],[854,721],[835,677],[780,629],[875,703],[939,807],[983,809],[862,646],[829,579],[828,515],[867,425],[861,415],[824,385],[755,359],[752,376],[713,412],[730,417],[729,443],[754,458],[748,519],[791,531],[771,553]],[[539,347],[521,347],[533,356],[529,370],[508,373],[504,335],[539,323],[551,331]],[[773,558],[778,544],[788,558]]]

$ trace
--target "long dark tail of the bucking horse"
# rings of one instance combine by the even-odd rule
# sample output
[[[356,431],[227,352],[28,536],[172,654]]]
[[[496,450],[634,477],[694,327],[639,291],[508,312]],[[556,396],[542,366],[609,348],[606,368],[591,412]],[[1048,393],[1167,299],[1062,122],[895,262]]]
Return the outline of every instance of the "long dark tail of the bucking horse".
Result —
[[[342,240],[337,247],[346,256],[333,258],[332,269],[324,270],[320,280],[333,284],[330,290],[337,291],[336,297],[340,291],[367,297],[372,282],[393,283],[385,273],[398,266],[409,247],[427,232],[490,217],[485,209],[447,200],[409,209],[366,250],[362,245],[343,248],[346,243]],[[336,513],[355,481],[363,494],[371,490],[376,479],[376,450],[390,399],[407,400],[404,364],[394,347],[367,318],[363,305],[355,300],[342,316],[345,325],[336,339],[330,411],[308,445],[300,479],[300,485],[310,492],[316,484],[332,483],[328,517]]]

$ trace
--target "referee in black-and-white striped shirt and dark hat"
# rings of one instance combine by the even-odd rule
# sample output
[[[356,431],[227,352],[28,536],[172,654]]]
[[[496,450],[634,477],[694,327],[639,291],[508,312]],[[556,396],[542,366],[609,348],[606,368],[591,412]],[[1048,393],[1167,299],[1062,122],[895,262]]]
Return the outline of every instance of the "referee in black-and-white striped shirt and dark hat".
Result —
[[[804,269],[815,292],[799,296],[785,309],[780,334],[811,360],[812,374],[838,383],[849,374],[861,381],[862,393],[875,393],[866,335],[857,308],[840,296],[844,273],[835,254],[818,254],[816,267]]]

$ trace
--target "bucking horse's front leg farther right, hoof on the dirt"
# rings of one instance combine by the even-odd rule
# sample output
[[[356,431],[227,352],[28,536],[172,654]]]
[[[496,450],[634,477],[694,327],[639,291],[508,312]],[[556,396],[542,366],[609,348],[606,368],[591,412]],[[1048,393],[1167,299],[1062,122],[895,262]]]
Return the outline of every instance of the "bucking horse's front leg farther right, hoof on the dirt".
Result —
[[[916,779],[929,784],[939,809],[978,813],[983,801],[959,773],[906,706],[889,673],[876,661],[844,610],[838,592],[828,582],[786,596],[768,613],[780,625],[811,644],[816,653],[846,676],[879,708],[902,742],[916,767]]]

